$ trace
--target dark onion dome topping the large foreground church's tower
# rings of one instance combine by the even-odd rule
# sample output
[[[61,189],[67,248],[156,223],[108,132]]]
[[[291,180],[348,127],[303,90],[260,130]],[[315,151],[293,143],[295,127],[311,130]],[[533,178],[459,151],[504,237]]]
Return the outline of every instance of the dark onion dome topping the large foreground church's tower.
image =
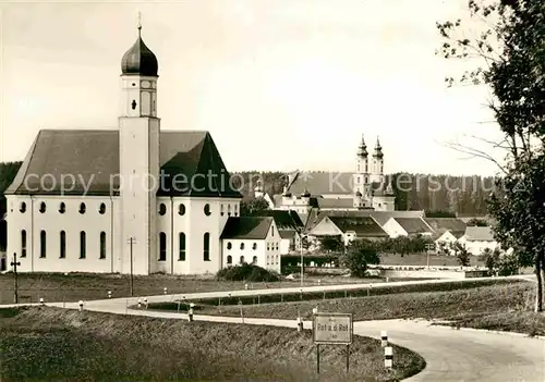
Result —
[[[142,40],[142,25],[138,25],[138,39],[121,59],[121,73],[123,75],[142,75],[158,77],[159,64],[154,52]]]

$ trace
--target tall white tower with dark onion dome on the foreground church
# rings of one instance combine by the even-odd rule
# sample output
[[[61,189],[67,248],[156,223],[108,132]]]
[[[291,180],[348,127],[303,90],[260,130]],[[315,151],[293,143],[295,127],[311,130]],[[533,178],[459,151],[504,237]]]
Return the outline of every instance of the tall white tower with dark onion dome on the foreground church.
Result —
[[[159,124],[157,118],[158,63],[142,40],[121,60],[121,115],[119,165],[121,196],[122,273],[148,274],[158,258],[157,189],[159,180]],[[130,238],[134,243],[130,244]],[[132,247],[132,248],[131,248]]]

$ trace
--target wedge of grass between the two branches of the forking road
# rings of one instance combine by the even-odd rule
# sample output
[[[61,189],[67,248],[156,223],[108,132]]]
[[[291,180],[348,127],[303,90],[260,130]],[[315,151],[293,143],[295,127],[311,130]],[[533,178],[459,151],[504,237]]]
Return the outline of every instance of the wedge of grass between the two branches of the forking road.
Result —
[[[373,291],[375,295],[336,299],[307,299],[291,303],[244,305],[244,317],[295,319],[298,312],[312,318],[312,309],[351,312],[354,320],[428,319],[451,321],[455,326],[504,330],[545,335],[545,315],[533,313],[535,285],[524,281],[446,285],[419,285]],[[443,288],[443,291],[441,291]],[[272,298],[272,297],[271,297]],[[238,300],[238,299],[237,299]],[[267,301],[265,297],[261,301]],[[206,303],[206,304],[203,304]],[[229,301],[223,301],[223,304]],[[216,306],[213,306],[216,304]],[[235,304],[234,298],[232,304]],[[149,305],[150,309],[174,310],[175,303]],[[201,301],[195,313],[240,316],[240,307]]]

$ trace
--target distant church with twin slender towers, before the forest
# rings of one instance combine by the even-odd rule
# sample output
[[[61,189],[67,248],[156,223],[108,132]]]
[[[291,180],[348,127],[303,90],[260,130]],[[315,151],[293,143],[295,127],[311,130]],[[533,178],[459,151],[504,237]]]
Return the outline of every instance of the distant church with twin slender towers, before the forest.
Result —
[[[261,189],[259,189],[261,190]],[[384,175],[384,152],[376,140],[372,156],[362,140],[355,151],[354,172],[295,172],[288,175],[275,209],[296,211],[305,217],[319,211],[393,211],[396,197],[391,180]]]

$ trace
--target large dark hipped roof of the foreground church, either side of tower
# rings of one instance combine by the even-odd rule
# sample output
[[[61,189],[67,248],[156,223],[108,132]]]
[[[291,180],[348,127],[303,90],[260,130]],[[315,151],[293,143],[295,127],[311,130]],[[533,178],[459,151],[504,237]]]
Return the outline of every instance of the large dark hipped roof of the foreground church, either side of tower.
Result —
[[[242,197],[208,132],[161,131],[159,147],[157,195]],[[119,195],[119,168],[118,130],[43,130],[5,194]]]

